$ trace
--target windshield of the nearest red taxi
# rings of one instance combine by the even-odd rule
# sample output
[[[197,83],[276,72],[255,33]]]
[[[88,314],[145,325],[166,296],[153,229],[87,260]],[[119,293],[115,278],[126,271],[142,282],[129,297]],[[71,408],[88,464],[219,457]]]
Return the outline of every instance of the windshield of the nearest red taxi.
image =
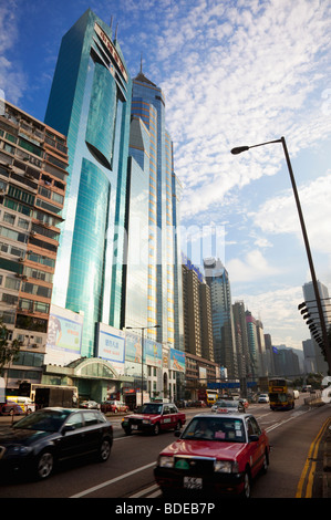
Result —
[[[242,420],[236,417],[195,417],[180,438],[225,443],[246,441]]]

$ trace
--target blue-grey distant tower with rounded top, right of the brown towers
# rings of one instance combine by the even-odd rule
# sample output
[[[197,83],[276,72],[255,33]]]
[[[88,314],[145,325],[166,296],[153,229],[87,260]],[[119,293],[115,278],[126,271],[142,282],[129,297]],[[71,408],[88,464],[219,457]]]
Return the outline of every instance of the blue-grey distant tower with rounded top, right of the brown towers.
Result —
[[[219,259],[207,258],[204,267],[211,292],[215,362],[227,368],[229,378],[238,377],[229,275]]]

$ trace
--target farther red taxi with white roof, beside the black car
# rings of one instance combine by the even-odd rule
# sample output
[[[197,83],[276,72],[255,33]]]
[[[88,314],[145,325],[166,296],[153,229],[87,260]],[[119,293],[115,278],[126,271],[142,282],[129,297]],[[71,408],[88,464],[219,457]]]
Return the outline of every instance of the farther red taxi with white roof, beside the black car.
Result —
[[[122,428],[126,435],[132,431],[148,431],[158,435],[162,430],[179,430],[185,425],[186,415],[172,403],[146,403],[139,412],[126,415]]]

